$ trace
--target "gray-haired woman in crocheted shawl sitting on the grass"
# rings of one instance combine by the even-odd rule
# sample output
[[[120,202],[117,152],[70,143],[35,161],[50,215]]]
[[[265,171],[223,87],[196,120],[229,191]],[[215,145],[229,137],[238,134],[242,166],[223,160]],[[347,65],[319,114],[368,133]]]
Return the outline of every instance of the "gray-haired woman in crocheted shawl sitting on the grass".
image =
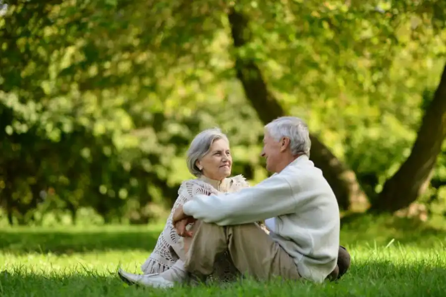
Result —
[[[218,193],[236,192],[249,184],[241,176],[230,177],[232,157],[229,141],[220,129],[208,129],[199,133],[187,151],[187,167],[196,179],[184,181],[179,190],[173,208],[167,218],[166,226],[158,238],[155,249],[142,265],[144,275],[135,275],[119,269],[119,277],[131,284],[136,281],[153,287],[170,287],[188,279],[183,260],[191,238],[182,238],[172,226],[172,214],[175,209],[196,194],[217,195]],[[191,222],[192,227],[194,223]],[[196,223],[195,223],[196,225]],[[239,273],[233,267],[226,254],[217,259],[216,271],[212,279],[230,281]]]

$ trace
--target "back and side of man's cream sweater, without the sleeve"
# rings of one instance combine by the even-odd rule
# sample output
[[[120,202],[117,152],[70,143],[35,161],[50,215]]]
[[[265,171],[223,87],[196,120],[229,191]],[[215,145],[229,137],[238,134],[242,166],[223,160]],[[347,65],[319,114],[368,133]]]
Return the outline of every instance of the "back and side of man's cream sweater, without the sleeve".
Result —
[[[270,235],[294,258],[302,277],[323,281],[335,268],[339,248],[335,194],[305,155],[277,175],[288,182],[296,207],[275,218]]]

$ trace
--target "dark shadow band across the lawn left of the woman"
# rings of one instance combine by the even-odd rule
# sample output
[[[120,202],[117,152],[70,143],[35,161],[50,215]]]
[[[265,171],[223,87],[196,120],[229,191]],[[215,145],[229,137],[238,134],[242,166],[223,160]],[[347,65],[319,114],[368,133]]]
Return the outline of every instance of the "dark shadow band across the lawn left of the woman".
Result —
[[[131,230],[131,227],[129,229],[112,232],[0,230],[0,251],[13,254],[29,252],[70,254],[105,250],[151,251],[155,247],[159,231],[145,231],[140,228]]]

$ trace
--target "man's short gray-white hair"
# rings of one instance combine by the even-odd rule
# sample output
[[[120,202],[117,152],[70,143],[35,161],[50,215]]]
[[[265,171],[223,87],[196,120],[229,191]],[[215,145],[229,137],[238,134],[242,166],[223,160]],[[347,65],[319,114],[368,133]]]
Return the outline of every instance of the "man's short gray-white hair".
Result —
[[[307,124],[294,116],[282,116],[265,126],[265,129],[276,141],[289,138],[291,152],[294,155],[306,154],[310,157],[310,133]]]

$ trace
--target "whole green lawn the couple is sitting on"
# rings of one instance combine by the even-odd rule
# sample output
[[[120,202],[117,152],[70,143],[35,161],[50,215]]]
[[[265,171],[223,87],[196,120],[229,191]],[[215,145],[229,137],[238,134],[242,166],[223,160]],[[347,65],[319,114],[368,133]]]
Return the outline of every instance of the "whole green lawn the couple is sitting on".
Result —
[[[0,229],[0,296],[445,296],[446,231],[409,220],[361,218],[341,235],[352,268],[337,284],[272,281],[170,290],[124,285],[139,273],[160,226]]]

